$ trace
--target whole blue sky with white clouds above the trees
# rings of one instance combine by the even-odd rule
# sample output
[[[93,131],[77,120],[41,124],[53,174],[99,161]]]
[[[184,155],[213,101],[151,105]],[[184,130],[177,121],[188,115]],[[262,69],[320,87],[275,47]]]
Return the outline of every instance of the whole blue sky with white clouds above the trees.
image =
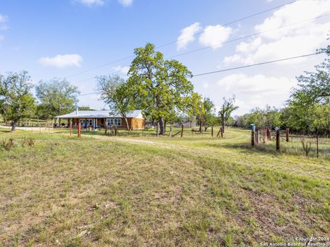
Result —
[[[179,40],[159,49],[166,58],[212,46],[175,58],[194,74],[309,54],[327,45],[330,15],[323,15],[329,14],[330,1],[326,0],[299,0],[224,25],[285,3],[289,1],[0,0],[0,73],[24,69],[35,83],[67,78],[85,94],[95,91],[96,75],[125,77],[131,58],[80,72],[131,56],[146,42],[159,46]],[[283,28],[274,30],[278,27]],[[203,34],[193,36],[199,32]],[[258,32],[262,34],[219,45]],[[236,114],[265,104],[280,107],[296,86],[295,76],[312,70],[322,58],[206,75],[192,82],[195,91],[210,97],[217,107],[223,97],[235,94],[240,106]],[[80,106],[104,107],[98,95],[79,99]]]

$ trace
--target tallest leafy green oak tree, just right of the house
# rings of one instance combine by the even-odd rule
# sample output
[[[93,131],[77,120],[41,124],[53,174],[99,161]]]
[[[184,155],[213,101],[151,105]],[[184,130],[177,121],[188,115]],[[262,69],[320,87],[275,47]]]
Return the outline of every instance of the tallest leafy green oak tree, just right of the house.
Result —
[[[173,115],[173,110],[183,110],[188,105],[193,92],[188,80],[192,73],[177,60],[165,60],[151,43],[136,48],[134,54],[128,73],[129,86],[137,104],[158,119],[160,134],[164,134],[164,120]]]

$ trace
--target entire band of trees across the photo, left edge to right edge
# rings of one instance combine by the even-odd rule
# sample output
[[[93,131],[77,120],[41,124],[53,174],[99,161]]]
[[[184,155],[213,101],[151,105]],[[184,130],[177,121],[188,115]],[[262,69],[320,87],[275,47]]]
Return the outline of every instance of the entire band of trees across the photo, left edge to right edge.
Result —
[[[119,75],[96,77],[100,97],[111,111],[121,115],[129,129],[127,115],[135,109],[153,124],[159,124],[160,134],[164,134],[166,124],[183,124],[184,119],[197,119],[199,131],[210,126],[237,126],[258,128],[279,126],[294,131],[330,134],[330,47],[320,49],[327,54],[325,61],[316,66],[315,72],[305,72],[298,76],[298,88],[292,91],[284,108],[271,106],[254,108],[250,113],[233,118],[232,112],[238,108],[235,96],[223,98],[216,110],[208,97],[194,91],[192,73],[177,60],[165,60],[155,46],[134,50],[127,79]],[[32,89],[35,89],[35,96]],[[21,119],[38,117],[54,119],[56,115],[72,112],[78,103],[77,86],[61,78],[41,80],[34,86],[28,72],[0,75],[0,115],[10,121],[15,130]],[[80,110],[93,110],[80,106]]]

